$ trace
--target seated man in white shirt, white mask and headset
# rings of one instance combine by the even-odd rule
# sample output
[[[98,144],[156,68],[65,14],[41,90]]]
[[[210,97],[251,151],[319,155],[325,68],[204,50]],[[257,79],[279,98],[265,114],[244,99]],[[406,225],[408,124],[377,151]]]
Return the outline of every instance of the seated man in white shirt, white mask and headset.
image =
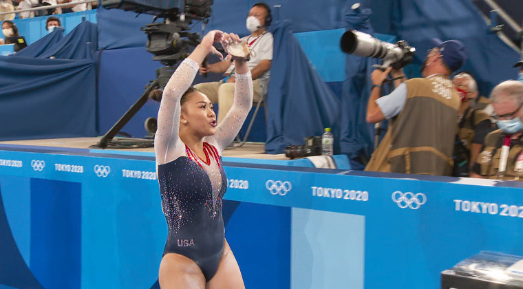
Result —
[[[270,21],[270,8],[265,3],[256,3],[250,9],[246,21],[247,29],[252,34],[242,38],[242,40],[247,41],[250,49],[253,50],[247,64],[250,73],[253,75],[253,101],[255,102],[266,94],[268,88],[270,63],[273,59],[273,34],[270,34],[266,29],[270,25]],[[222,81],[195,85],[195,88],[209,97],[212,103],[218,104],[218,123],[222,122],[227,111],[233,105],[235,89],[234,70],[235,67],[230,60],[200,67],[200,74],[226,72],[228,76]]]

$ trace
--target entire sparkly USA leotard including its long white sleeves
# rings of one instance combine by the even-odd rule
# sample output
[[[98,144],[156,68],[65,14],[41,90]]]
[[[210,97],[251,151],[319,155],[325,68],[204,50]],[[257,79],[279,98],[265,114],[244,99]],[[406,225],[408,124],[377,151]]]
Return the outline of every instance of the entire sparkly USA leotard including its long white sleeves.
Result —
[[[164,255],[176,253],[192,259],[209,281],[224,248],[222,197],[227,179],[220,156],[252,107],[253,83],[250,72],[236,74],[234,105],[217,126],[217,133],[204,138],[206,160],[202,160],[178,136],[180,98],[198,69],[198,63],[186,58],[167,83],[158,112],[154,149],[162,210],[169,228]]]

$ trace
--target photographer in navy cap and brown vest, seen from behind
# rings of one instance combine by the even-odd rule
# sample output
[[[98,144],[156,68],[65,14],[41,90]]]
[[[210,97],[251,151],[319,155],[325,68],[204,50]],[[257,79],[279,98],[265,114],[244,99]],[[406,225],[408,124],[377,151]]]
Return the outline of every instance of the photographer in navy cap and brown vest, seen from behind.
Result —
[[[457,40],[433,43],[423,78],[405,81],[387,96],[380,98],[381,85],[392,67],[372,72],[366,120],[390,122],[366,171],[451,175],[460,98],[449,76],[465,61],[465,47]]]

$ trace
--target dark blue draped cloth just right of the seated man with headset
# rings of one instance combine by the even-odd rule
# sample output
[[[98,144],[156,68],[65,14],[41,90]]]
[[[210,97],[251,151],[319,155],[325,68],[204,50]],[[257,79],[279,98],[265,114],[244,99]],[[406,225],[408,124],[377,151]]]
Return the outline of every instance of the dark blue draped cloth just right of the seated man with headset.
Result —
[[[290,26],[290,21],[281,21],[269,28],[274,54],[267,96],[267,153],[284,153],[289,144],[303,144],[304,137],[321,136],[325,127],[336,132],[339,117],[339,99],[310,65]]]

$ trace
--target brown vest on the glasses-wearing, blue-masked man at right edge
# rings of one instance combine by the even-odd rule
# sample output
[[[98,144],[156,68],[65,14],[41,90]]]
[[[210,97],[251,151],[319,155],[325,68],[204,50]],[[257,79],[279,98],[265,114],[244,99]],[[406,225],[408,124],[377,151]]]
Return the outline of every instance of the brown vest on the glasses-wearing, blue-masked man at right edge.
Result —
[[[492,131],[487,135],[484,142],[484,149],[478,156],[476,162],[480,165],[480,175],[489,179],[500,180],[523,180],[522,158],[517,165],[517,158],[523,153],[523,136],[519,139],[511,140],[509,157],[506,159],[506,169],[504,173],[498,173],[500,168],[501,147],[505,134],[501,129]]]

